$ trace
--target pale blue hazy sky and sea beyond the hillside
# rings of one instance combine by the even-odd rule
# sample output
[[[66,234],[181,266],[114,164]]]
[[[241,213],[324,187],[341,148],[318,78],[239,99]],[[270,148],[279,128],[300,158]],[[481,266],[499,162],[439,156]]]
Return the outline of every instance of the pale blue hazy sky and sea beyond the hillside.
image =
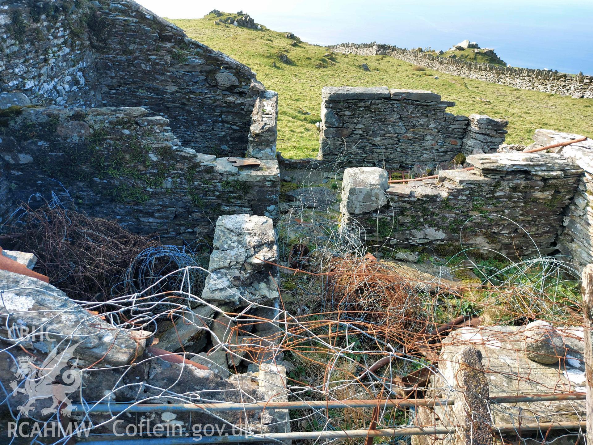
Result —
[[[470,39],[506,62],[593,75],[593,0],[138,0],[171,18],[241,9],[318,45],[376,41],[446,50]]]

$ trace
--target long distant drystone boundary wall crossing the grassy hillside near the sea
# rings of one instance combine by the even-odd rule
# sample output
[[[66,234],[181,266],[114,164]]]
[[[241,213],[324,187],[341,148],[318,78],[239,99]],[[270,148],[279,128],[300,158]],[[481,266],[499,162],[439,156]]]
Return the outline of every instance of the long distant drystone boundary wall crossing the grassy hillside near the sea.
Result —
[[[426,66],[448,74],[508,85],[522,90],[543,91],[544,93],[570,96],[582,94],[583,97],[593,97],[593,77],[582,73],[572,76],[547,69],[511,68],[492,65],[491,63],[463,61],[377,43],[367,45],[342,43],[341,45],[329,46],[329,48],[335,52],[346,54],[393,56],[402,61]]]

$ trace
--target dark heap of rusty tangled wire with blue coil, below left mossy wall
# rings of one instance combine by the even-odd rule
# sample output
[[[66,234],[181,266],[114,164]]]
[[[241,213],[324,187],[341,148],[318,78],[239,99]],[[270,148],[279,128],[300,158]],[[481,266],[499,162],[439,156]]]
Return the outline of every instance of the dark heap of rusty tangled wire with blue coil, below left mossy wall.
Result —
[[[115,221],[88,217],[55,199],[39,208],[22,204],[7,223],[8,239],[37,256],[36,270],[74,300],[107,302],[139,293],[158,282],[155,293],[202,291],[205,272],[172,271],[205,266],[206,242],[162,245],[157,237],[131,233]],[[163,276],[168,278],[162,280]],[[162,309],[157,307],[155,309]]]

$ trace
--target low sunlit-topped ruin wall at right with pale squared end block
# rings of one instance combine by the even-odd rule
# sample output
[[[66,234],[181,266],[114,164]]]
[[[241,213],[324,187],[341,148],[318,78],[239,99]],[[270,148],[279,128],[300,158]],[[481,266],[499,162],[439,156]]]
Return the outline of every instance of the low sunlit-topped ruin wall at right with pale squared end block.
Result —
[[[535,141],[543,147],[578,137],[538,130]],[[347,169],[342,218],[351,230],[362,229],[369,245],[426,246],[451,255],[461,244],[509,258],[559,250],[584,266],[593,260],[592,150],[588,139],[555,153],[470,155],[466,167],[474,170],[442,170],[437,179],[391,185],[385,170]]]

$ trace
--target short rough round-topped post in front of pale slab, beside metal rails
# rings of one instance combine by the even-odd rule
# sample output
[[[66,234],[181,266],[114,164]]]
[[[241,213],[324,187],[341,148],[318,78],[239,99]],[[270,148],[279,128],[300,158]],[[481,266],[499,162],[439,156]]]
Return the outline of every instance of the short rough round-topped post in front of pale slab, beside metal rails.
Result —
[[[492,445],[490,390],[482,365],[482,352],[461,349],[453,358],[454,445]]]

